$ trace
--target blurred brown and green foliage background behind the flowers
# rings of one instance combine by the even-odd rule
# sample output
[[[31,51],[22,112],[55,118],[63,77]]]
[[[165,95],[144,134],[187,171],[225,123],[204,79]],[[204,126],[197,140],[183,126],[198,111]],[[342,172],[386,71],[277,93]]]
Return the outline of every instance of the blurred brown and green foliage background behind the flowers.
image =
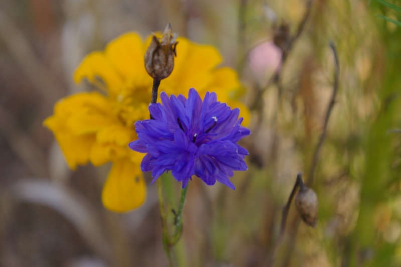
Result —
[[[266,266],[275,248],[274,266],[401,265],[400,6],[0,1],[0,265],[167,265],[155,186],[137,210],[105,210],[101,188],[110,166],[69,171],[42,121],[57,99],[90,89],[72,79],[86,54],[122,33],[145,37],[168,22],[179,35],[216,46],[224,65],[239,72],[253,131],[243,142],[249,170],[234,176],[235,191],[191,183],[178,265]],[[338,51],[339,86],[314,170],[333,91],[329,40]],[[300,222],[292,205],[278,244],[299,172],[312,177],[318,225]]]

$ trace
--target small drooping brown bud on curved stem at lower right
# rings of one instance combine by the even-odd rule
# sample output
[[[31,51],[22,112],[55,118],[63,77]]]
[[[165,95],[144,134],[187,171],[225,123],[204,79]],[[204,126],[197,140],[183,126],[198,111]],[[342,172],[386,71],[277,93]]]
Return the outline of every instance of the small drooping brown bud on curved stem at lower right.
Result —
[[[295,206],[302,220],[309,226],[315,227],[317,223],[318,201],[316,193],[302,185],[295,197]]]

